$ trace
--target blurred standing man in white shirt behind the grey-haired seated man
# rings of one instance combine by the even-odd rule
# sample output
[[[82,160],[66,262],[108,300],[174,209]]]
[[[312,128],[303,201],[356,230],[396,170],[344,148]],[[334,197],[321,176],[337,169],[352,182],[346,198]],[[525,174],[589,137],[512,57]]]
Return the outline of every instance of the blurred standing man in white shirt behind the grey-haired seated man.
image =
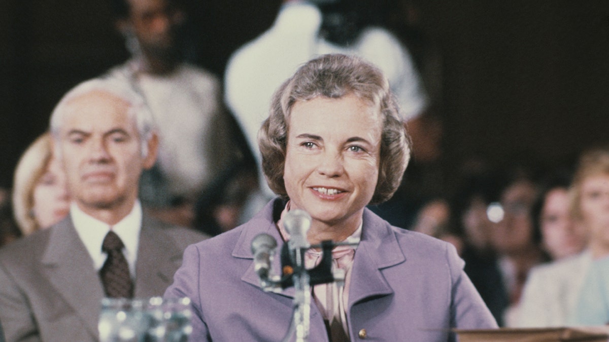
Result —
[[[213,74],[186,62],[187,11],[177,0],[114,0],[116,27],[132,58],[108,72],[146,100],[159,129],[157,164],[141,178],[144,206],[158,218],[193,226],[197,201],[230,167],[256,172],[247,143],[222,103]],[[235,180],[237,184],[238,181]],[[256,187],[246,184],[247,187]]]

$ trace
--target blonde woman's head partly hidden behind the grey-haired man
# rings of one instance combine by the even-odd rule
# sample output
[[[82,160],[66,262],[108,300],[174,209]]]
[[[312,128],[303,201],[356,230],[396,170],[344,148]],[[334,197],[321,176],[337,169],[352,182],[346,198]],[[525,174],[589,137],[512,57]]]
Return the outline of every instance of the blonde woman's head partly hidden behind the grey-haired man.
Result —
[[[38,137],[15,169],[13,212],[24,236],[60,222],[69,212],[66,175],[53,156],[50,133]]]

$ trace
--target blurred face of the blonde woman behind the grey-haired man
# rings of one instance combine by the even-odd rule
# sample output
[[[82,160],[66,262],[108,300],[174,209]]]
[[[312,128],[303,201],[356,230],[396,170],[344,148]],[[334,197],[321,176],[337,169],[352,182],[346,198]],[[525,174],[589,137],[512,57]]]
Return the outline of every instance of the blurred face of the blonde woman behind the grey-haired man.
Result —
[[[62,220],[69,212],[66,176],[55,158],[49,161],[46,172],[33,190],[33,212],[42,229]]]

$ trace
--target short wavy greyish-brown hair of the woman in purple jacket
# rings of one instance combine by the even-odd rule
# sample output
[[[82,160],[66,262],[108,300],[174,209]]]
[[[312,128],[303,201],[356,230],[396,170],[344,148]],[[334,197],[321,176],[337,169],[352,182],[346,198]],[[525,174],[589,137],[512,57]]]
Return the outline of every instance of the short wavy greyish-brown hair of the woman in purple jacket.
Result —
[[[283,172],[286,161],[287,122],[294,103],[323,96],[339,99],[354,94],[379,109],[383,117],[381,165],[370,203],[389,200],[400,186],[410,159],[410,139],[398,105],[382,72],[359,57],[328,54],[308,61],[273,94],[269,117],[258,133],[262,171],[270,189],[287,197]]]

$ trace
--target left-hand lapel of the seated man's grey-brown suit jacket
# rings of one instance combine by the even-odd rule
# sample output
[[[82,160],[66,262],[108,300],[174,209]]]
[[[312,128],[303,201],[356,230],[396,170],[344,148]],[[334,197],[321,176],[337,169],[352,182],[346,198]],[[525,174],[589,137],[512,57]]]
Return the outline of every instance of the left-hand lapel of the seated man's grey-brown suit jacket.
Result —
[[[93,260],[69,217],[52,229],[42,259],[44,277],[82,319],[85,329],[97,336],[104,290]]]

